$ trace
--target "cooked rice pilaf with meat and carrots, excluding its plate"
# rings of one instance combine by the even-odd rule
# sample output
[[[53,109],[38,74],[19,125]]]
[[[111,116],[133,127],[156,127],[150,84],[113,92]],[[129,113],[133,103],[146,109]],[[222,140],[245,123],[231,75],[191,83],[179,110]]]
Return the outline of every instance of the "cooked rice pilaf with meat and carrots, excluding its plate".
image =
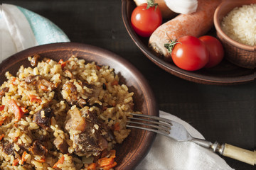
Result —
[[[0,169],[114,169],[133,93],[108,66],[39,57],[0,87]]]

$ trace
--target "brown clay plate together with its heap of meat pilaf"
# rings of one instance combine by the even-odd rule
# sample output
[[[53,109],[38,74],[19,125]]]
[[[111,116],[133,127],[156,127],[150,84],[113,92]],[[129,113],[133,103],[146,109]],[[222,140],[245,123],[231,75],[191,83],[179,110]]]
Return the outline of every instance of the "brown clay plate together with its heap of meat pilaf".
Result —
[[[0,64],[0,84],[0,169],[135,169],[156,137],[125,126],[132,110],[159,115],[146,79],[99,47],[23,50]]]

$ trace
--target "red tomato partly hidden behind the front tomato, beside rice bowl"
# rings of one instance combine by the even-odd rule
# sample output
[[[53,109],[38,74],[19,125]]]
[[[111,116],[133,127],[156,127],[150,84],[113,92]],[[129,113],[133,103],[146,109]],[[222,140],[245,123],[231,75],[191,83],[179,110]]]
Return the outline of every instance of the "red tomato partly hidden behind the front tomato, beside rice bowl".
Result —
[[[205,67],[210,68],[219,64],[224,57],[223,45],[220,43],[220,41],[210,35],[204,35],[200,37],[199,40],[205,43],[209,51],[209,62]]]

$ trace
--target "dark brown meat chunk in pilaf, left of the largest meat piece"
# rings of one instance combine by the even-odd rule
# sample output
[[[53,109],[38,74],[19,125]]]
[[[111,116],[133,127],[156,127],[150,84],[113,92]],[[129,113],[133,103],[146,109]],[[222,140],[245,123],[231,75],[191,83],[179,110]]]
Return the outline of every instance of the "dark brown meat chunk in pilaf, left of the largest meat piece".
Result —
[[[53,116],[51,108],[43,108],[33,115],[33,122],[45,130],[50,128],[50,118]]]

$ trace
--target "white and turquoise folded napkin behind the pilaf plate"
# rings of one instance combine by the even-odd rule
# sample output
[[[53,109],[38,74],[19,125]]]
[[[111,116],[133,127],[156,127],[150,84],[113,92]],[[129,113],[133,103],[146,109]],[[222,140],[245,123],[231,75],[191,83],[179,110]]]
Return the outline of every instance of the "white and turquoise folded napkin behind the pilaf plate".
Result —
[[[70,41],[58,26],[37,13],[11,4],[2,4],[0,9],[0,63],[29,47]]]

